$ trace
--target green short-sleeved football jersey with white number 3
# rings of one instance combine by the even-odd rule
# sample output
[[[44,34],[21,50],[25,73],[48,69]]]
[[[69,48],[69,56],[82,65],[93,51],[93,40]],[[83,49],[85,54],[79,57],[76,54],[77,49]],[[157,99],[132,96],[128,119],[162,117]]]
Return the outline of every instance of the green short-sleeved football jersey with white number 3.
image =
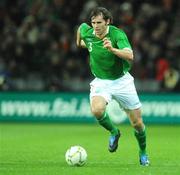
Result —
[[[105,37],[111,41],[114,48],[131,49],[128,38],[122,30],[112,25],[108,27],[108,33]],[[128,61],[117,57],[103,47],[103,40],[95,36],[92,27],[86,23],[82,23],[80,26],[80,35],[88,48],[90,68],[95,77],[114,80],[130,70],[131,64]]]

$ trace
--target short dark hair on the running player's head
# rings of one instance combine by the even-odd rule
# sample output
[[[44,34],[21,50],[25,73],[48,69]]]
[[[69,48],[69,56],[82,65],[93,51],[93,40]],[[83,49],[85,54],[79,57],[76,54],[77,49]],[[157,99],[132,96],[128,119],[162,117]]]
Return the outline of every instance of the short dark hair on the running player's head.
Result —
[[[90,13],[90,21],[92,20],[92,17],[102,15],[103,19],[107,21],[108,19],[110,20],[110,23],[113,22],[113,17],[112,14],[104,7],[96,7],[94,8],[91,13]]]

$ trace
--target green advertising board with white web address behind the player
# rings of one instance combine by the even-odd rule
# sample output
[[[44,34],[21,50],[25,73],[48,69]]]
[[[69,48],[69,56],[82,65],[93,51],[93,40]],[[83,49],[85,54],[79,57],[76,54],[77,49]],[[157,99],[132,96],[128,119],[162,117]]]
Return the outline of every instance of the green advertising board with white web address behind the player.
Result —
[[[140,94],[146,123],[180,123],[180,94]],[[128,119],[112,101],[108,112],[116,123]],[[95,122],[88,93],[0,93],[0,121]]]

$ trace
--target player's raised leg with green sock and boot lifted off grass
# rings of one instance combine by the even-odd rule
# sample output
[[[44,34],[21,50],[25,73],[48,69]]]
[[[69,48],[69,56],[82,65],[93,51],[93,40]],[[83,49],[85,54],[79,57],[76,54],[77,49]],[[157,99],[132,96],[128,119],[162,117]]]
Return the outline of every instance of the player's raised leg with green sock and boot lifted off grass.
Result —
[[[99,124],[106,130],[110,131],[111,136],[109,139],[109,151],[114,152],[118,148],[118,141],[120,131],[111,122],[108,114],[106,113],[106,100],[101,96],[94,96],[91,99],[91,111],[98,120]]]

